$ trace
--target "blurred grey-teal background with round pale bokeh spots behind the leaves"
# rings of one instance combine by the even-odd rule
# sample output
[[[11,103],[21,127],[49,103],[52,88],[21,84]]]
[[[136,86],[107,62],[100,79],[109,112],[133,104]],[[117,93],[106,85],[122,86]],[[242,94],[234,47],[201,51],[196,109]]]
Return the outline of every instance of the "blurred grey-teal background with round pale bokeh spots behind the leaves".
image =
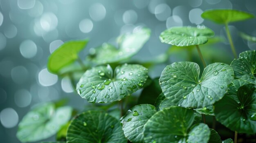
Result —
[[[255,6],[256,0],[0,0],[0,142],[20,143],[18,122],[36,103],[68,98],[79,110],[88,104],[73,92],[68,79],[47,70],[47,57],[63,42],[89,38],[80,55],[84,59],[90,48],[115,43],[118,35],[146,26],[150,40],[133,58],[147,61],[170,47],[158,38],[166,28],[205,25],[225,39],[224,25],[203,20],[201,13],[222,8],[256,15]],[[239,31],[256,36],[255,25],[256,19],[230,24],[237,53],[256,49],[255,43],[238,36]],[[214,48],[227,51],[228,61],[233,59],[227,40]],[[171,56],[169,61],[180,59]],[[158,77],[165,66],[152,68],[150,77]]]

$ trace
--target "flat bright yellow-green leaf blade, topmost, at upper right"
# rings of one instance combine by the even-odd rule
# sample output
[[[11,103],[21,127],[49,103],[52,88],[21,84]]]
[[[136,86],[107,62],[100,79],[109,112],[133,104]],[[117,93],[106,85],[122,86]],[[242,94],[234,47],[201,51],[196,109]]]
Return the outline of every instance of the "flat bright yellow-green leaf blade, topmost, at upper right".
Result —
[[[237,22],[254,18],[254,15],[234,9],[212,9],[204,11],[201,17],[218,24],[228,24],[229,22]]]

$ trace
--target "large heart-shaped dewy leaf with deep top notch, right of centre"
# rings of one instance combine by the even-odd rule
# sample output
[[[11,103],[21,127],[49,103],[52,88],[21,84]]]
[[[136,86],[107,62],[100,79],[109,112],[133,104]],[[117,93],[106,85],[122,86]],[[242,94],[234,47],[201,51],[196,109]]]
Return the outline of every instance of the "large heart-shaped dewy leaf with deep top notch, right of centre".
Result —
[[[159,79],[164,95],[175,106],[202,108],[222,99],[234,79],[233,69],[224,63],[200,68],[193,62],[175,62],[164,68]]]

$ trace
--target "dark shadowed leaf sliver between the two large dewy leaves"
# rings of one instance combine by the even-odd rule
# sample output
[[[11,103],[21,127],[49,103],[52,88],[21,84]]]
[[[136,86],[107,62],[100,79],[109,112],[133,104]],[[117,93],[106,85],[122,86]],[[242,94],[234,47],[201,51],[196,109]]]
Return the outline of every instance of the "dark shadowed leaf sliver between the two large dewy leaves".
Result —
[[[155,78],[149,86],[142,90],[137,104],[154,104],[160,93],[162,90],[159,85],[159,78]]]

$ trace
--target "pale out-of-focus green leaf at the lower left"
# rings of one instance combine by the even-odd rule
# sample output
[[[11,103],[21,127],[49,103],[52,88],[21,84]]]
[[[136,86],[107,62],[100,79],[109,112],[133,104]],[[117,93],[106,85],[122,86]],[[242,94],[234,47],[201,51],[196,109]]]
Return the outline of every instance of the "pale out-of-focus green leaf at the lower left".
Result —
[[[19,123],[17,138],[23,143],[47,139],[69,121],[71,114],[69,106],[56,109],[54,103],[39,104]]]

